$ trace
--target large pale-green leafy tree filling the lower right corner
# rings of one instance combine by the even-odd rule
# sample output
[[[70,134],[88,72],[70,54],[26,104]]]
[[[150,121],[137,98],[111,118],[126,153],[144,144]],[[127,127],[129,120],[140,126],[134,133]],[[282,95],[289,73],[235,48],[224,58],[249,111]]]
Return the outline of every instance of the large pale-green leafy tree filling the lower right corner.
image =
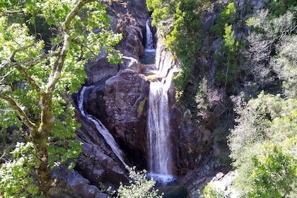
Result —
[[[262,92],[236,112],[228,137],[235,185],[248,197],[296,197],[297,100]]]

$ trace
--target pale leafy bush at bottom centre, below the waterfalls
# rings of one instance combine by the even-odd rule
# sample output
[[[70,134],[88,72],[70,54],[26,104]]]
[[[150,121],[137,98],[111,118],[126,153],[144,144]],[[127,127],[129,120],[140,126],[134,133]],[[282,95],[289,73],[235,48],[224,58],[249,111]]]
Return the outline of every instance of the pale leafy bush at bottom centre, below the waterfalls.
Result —
[[[150,180],[146,179],[146,170],[136,172],[135,167],[129,170],[129,185],[120,183],[117,190],[118,197],[121,198],[161,198],[162,194],[158,194],[158,190],[154,189],[156,182],[151,177]]]

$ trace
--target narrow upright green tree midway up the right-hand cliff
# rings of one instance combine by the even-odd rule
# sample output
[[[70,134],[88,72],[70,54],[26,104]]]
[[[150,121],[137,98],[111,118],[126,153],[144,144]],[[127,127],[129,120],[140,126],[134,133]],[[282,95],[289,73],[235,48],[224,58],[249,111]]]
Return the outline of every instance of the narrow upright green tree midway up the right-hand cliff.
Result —
[[[239,42],[235,40],[232,25],[225,25],[225,34],[223,35],[223,44],[219,46],[219,53],[216,54],[215,59],[218,66],[216,71],[216,81],[219,85],[226,86],[230,83],[236,83],[239,68]]]

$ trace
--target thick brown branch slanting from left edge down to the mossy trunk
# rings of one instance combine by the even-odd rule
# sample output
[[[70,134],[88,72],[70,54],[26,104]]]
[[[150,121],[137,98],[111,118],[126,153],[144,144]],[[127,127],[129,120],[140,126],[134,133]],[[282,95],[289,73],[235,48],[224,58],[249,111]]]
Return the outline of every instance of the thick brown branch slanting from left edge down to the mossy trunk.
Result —
[[[13,110],[16,111],[18,116],[21,118],[22,122],[30,129],[31,132],[35,131],[37,129],[35,123],[31,122],[28,118],[28,116],[25,114],[25,112],[21,109],[21,107],[16,103],[13,98],[11,98],[8,95],[5,95],[3,93],[0,93],[0,98],[3,100],[6,100],[11,107],[13,107]]]

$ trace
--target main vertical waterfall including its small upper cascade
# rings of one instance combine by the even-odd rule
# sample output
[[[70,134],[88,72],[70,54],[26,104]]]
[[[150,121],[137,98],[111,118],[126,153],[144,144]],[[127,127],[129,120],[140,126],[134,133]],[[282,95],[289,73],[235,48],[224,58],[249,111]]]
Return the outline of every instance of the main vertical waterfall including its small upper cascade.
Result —
[[[146,21],[146,53],[153,52],[153,34]],[[154,62],[153,62],[154,63]],[[164,70],[165,71],[165,70]],[[163,71],[157,71],[159,76],[168,76]],[[169,72],[169,74],[171,74]],[[174,180],[172,172],[172,155],[170,151],[170,124],[168,107],[168,90],[172,76],[168,81],[151,82],[148,95],[148,176],[158,182],[168,183]]]

